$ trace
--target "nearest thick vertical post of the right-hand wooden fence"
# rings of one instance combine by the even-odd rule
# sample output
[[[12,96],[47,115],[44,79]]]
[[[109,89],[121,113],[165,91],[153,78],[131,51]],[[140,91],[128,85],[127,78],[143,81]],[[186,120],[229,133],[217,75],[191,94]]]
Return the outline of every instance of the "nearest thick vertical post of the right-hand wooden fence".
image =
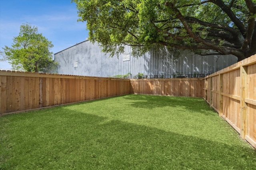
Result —
[[[240,66],[240,119],[241,119],[241,133],[242,139],[245,139],[247,134],[247,105],[245,99],[247,98],[247,66]]]

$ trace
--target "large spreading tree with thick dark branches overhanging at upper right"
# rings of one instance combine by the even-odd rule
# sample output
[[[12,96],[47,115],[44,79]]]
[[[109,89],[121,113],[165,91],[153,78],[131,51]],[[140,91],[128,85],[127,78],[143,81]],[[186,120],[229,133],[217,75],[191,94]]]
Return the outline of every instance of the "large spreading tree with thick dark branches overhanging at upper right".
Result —
[[[89,39],[103,51],[131,45],[136,56],[152,46],[200,55],[256,53],[256,0],[72,0]],[[210,52],[211,51],[211,52]]]

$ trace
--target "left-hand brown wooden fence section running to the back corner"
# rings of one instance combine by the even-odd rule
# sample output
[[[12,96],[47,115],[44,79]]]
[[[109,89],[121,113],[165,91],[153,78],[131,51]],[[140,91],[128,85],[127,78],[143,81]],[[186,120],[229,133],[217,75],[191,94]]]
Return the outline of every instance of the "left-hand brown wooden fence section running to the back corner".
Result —
[[[130,94],[130,80],[0,71],[0,113]]]

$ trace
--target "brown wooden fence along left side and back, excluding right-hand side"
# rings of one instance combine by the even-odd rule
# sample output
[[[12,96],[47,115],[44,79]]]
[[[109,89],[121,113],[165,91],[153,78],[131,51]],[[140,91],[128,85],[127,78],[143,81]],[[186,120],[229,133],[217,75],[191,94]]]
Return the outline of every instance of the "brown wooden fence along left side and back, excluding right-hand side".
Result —
[[[123,94],[203,97],[202,78],[118,79],[0,70],[0,115]]]

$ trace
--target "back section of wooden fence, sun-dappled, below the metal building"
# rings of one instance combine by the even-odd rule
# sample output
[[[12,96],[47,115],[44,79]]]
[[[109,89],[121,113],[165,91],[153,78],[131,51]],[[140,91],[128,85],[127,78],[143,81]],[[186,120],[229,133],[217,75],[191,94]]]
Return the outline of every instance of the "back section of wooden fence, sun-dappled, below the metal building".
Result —
[[[202,78],[130,79],[135,94],[203,97]]]

